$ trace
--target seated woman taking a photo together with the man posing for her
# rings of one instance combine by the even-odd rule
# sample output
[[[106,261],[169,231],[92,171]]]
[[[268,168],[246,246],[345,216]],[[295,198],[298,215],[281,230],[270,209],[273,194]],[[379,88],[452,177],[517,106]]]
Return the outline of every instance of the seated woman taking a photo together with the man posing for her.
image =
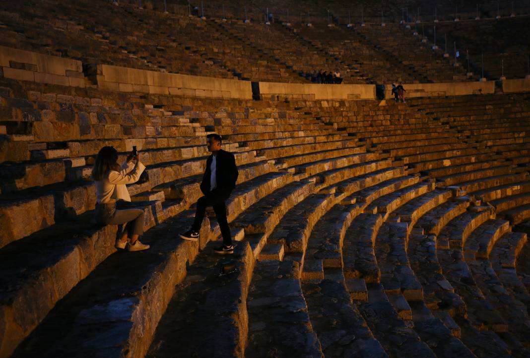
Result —
[[[218,254],[232,254],[234,246],[226,218],[226,200],[234,190],[238,173],[234,155],[221,149],[221,145],[221,136],[213,133],[207,136],[207,147],[211,155],[206,160],[206,171],[200,184],[204,196],[197,201],[193,225],[180,237],[198,241],[206,207],[212,206],[223,236],[223,245],[215,248],[214,251]],[[138,240],[143,234],[144,211],[116,208],[117,201],[130,201],[126,184],[136,183],[144,170],[145,166],[140,162],[137,151],[129,154],[121,167],[118,165],[118,151],[113,147],[101,148],[95,160],[92,170],[97,195],[95,218],[103,225],[125,224],[122,234],[118,235],[114,245],[118,249],[140,251],[149,248],[149,245]]]

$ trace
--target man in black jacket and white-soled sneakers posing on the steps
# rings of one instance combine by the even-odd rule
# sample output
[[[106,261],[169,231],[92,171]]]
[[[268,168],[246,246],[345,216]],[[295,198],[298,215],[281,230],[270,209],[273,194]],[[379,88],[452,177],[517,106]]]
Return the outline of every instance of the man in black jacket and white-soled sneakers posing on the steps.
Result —
[[[211,206],[214,208],[223,236],[223,245],[215,248],[214,251],[218,254],[233,254],[232,236],[226,220],[226,200],[234,190],[237,181],[235,158],[232,153],[221,149],[221,136],[212,133],[206,138],[211,155],[206,160],[206,171],[200,184],[200,190],[204,196],[197,201],[197,211],[191,229],[180,234],[180,237],[184,240],[198,241],[206,207]]]

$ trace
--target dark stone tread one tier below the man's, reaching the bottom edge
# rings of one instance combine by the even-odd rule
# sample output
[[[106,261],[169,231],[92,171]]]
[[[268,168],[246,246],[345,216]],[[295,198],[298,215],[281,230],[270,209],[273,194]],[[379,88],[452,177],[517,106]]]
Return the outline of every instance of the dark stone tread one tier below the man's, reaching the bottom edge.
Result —
[[[254,268],[246,301],[249,336],[245,356],[323,356],[300,275],[299,264],[290,260],[260,262]]]

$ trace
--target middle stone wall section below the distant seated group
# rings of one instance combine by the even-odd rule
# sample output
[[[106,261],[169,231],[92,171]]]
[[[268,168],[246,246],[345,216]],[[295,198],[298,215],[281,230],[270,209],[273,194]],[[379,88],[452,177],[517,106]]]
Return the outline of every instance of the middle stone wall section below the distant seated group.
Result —
[[[324,85],[260,82],[260,94],[305,100],[374,100],[375,85]]]

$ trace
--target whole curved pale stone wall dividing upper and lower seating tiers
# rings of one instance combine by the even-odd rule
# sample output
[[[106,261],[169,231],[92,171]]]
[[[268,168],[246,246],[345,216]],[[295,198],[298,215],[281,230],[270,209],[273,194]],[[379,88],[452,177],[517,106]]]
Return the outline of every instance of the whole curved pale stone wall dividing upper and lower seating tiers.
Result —
[[[0,46],[0,68],[6,78],[32,82],[84,87],[81,61],[17,50]],[[148,71],[110,65],[98,66],[98,86],[118,92],[210,97],[224,99],[252,99],[249,81],[214,77],[189,76]],[[454,82],[405,84],[406,97],[461,96],[491,94],[494,82]],[[260,95],[306,100],[372,100],[376,98],[374,85],[323,85],[260,82]],[[385,87],[386,98],[392,98],[392,86]],[[530,78],[509,79],[502,82],[502,91],[517,93],[530,91]]]

